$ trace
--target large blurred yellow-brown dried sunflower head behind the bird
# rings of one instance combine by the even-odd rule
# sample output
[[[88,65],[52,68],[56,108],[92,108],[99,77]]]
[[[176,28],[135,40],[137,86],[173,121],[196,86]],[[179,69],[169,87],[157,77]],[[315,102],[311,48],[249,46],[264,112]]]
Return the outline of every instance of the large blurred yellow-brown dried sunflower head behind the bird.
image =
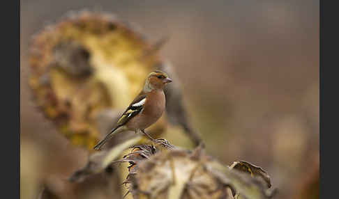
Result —
[[[147,51],[144,37],[112,15],[63,17],[33,38],[29,84],[36,104],[72,143],[91,149],[102,136],[98,116],[126,108],[159,63],[157,52]],[[150,131],[165,126],[162,118]]]

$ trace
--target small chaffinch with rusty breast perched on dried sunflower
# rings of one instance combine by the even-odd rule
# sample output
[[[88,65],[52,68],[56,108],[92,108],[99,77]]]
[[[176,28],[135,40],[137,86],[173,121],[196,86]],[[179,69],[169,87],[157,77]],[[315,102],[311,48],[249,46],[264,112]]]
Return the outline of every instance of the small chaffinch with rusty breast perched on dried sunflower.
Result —
[[[165,111],[164,88],[170,82],[172,82],[172,79],[169,79],[165,72],[161,70],[151,72],[146,77],[144,88],[123,112],[118,122],[116,122],[116,127],[96,144],[93,149],[100,150],[114,134],[126,131],[134,131],[135,133],[141,131],[154,141],[149,134],[146,134],[144,129],[153,125],[163,115]]]

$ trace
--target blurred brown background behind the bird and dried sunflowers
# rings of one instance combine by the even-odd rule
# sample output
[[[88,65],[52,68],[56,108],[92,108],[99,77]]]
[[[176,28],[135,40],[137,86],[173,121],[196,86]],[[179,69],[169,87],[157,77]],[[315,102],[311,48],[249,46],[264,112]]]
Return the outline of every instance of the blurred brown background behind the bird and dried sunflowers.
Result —
[[[86,164],[88,152],[35,108],[27,60],[34,33],[85,8],[136,24],[150,42],[169,36],[160,54],[213,157],[261,166],[276,198],[301,198],[319,178],[319,1],[30,0],[21,1],[21,198]]]

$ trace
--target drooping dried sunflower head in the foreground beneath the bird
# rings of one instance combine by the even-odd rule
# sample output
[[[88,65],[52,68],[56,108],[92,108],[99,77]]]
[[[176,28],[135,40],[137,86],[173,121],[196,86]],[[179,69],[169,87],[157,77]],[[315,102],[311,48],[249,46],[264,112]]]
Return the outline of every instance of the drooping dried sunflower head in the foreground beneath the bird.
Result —
[[[257,179],[223,166],[201,146],[188,151],[140,145],[120,161],[130,163],[125,184],[133,198],[270,198]]]

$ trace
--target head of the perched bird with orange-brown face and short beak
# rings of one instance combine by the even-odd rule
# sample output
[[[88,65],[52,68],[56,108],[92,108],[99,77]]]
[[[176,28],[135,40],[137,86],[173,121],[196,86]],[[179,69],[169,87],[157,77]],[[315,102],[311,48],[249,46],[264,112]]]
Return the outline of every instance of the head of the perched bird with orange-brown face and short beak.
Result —
[[[151,72],[146,79],[145,89],[146,90],[163,90],[165,85],[169,82],[172,82],[172,79],[169,79],[168,75],[160,70]]]

